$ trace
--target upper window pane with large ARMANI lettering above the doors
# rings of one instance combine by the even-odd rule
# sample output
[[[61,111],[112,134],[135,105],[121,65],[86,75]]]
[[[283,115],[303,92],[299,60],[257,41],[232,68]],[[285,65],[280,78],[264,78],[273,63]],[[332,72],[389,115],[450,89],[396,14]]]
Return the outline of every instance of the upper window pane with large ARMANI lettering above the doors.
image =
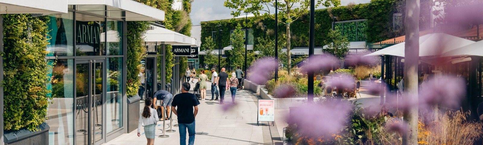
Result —
[[[101,34],[105,34],[104,18],[77,13],[75,23],[76,56],[105,55],[105,41],[101,41]]]

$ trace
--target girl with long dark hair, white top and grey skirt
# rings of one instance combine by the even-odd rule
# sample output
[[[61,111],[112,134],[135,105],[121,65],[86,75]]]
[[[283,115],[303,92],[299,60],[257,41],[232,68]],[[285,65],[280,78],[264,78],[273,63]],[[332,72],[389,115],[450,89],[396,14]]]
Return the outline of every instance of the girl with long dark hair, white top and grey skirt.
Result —
[[[153,104],[153,99],[147,98],[144,102],[144,109],[141,110],[139,114],[138,137],[141,136],[140,131],[141,126],[143,126],[144,134],[146,135],[146,139],[148,140],[147,145],[154,145],[156,125],[157,121],[159,121],[156,109],[149,107],[151,106],[151,104]]]

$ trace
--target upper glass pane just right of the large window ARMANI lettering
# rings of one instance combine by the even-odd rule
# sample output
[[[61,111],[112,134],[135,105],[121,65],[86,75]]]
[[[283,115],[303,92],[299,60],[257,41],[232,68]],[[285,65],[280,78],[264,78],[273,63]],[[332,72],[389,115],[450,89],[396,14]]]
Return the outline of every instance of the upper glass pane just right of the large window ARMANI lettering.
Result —
[[[107,55],[123,55],[122,35],[123,22],[107,19]],[[104,42],[103,36],[101,36],[101,42]]]

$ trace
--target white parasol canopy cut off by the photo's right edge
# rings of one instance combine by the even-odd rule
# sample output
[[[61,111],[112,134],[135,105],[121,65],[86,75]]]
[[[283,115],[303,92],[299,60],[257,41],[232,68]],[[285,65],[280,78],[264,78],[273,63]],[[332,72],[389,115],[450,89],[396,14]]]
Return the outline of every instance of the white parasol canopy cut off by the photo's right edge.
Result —
[[[471,43],[469,45],[459,47],[455,50],[441,54],[440,57],[457,57],[457,56],[483,56],[483,41]]]

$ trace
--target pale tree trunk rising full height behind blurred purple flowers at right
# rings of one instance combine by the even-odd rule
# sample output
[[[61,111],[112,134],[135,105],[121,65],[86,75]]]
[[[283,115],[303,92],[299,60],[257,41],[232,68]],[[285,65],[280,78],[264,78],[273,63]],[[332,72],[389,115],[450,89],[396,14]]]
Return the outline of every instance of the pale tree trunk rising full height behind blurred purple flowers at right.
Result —
[[[404,49],[404,110],[407,132],[403,133],[402,145],[418,145],[418,61],[419,61],[419,0],[406,0],[406,45]]]

